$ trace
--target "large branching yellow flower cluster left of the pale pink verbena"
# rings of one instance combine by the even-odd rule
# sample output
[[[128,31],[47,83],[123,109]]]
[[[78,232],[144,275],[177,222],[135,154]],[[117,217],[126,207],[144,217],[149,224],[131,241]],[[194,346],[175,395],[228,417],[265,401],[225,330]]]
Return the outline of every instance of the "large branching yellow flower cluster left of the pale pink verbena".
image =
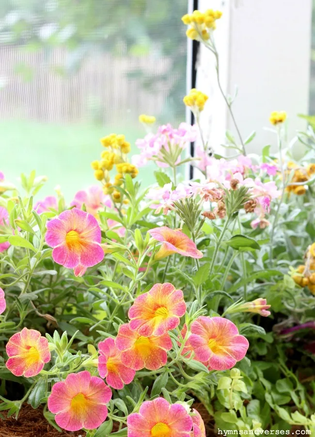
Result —
[[[111,133],[100,139],[101,144],[106,147],[101,153],[100,161],[91,162],[95,179],[103,183],[104,194],[110,194],[115,203],[127,203],[123,200],[117,187],[124,185],[124,175],[129,174],[132,178],[138,175],[138,168],[127,161],[127,153],[130,152],[130,143],[126,141],[125,135]],[[116,166],[117,174],[113,182],[110,181],[110,171]]]

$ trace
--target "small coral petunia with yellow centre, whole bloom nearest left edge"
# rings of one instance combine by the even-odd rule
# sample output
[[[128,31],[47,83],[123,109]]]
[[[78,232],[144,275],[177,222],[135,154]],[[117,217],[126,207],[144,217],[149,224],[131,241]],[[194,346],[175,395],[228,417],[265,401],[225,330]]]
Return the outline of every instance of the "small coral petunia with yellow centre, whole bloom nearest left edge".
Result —
[[[6,367],[15,376],[30,378],[37,375],[50,360],[48,341],[35,329],[23,328],[6,345],[9,356]]]

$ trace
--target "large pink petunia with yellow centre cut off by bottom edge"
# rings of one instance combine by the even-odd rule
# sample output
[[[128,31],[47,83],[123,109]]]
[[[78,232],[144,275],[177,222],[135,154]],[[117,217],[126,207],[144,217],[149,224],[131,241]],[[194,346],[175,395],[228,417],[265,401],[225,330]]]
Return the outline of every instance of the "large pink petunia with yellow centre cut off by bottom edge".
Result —
[[[157,398],[129,414],[127,427],[128,437],[190,437],[192,419],[183,405]]]

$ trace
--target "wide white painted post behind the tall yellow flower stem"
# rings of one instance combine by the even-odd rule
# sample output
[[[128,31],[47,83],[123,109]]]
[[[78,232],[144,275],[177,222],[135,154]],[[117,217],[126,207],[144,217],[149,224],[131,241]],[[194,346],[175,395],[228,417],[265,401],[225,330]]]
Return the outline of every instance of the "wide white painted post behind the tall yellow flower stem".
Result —
[[[214,32],[220,54],[220,77],[225,93],[238,94],[233,104],[243,139],[257,135],[247,146],[260,153],[275,144],[270,127],[272,111],[288,114],[288,138],[305,128],[298,113],[308,113],[311,55],[312,0],[199,0],[199,9],[220,9],[223,15]],[[220,144],[226,129],[236,131],[220,95],[212,53],[201,48],[197,88],[209,100],[202,125],[210,145],[223,154]]]

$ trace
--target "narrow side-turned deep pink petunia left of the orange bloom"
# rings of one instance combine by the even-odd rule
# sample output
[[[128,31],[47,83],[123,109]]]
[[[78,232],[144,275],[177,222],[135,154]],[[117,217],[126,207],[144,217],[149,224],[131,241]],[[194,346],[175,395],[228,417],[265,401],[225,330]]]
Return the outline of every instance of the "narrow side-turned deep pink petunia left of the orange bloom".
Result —
[[[136,372],[123,364],[121,352],[117,349],[115,340],[106,339],[98,343],[98,372],[101,378],[112,388],[121,390],[124,384],[130,384]]]

